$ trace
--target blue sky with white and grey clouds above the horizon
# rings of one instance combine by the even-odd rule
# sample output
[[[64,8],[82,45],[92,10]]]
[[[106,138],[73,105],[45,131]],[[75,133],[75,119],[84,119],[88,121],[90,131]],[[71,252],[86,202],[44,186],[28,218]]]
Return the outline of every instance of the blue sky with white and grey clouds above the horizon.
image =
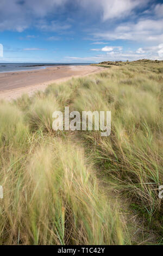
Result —
[[[1,0],[0,62],[163,59],[163,3]]]

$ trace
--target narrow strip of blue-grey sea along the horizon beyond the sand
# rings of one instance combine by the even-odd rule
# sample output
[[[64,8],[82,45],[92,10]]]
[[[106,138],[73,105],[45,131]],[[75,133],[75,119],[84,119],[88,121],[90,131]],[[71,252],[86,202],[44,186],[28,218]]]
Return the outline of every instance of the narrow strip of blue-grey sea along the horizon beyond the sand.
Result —
[[[48,66],[62,65],[90,65],[91,63],[0,63],[0,72],[26,71],[35,69],[46,69]]]

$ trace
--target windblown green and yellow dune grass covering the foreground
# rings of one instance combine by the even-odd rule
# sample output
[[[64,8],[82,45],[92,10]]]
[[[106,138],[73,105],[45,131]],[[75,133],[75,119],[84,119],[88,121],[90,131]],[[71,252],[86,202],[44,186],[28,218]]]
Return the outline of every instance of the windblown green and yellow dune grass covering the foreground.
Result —
[[[2,245],[161,244],[163,64],[141,60],[0,103]],[[111,111],[111,135],[52,130]]]

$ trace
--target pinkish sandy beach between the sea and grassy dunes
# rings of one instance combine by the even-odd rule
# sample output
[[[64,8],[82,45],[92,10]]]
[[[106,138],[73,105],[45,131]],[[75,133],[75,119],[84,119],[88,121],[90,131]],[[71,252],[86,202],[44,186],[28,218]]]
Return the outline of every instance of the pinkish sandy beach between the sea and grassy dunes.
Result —
[[[0,99],[12,100],[24,93],[32,95],[48,84],[66,81],[101,71],[99,66],[51,66],[46,69],[4,72],[0,74]]]

